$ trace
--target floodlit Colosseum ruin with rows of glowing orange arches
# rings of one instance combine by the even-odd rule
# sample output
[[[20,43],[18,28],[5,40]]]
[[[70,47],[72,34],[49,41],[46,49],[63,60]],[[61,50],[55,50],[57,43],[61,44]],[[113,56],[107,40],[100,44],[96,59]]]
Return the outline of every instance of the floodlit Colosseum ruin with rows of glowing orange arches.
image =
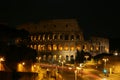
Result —
[[[84,50],[93,56],[109,53],[109,40],[101,37],[85,40],[76,19],[43,20],[20,25],[18,29],[30,32],[31,41],[27,45],[35,49],[42,60],[70,61],[75,59],[76,50]]]

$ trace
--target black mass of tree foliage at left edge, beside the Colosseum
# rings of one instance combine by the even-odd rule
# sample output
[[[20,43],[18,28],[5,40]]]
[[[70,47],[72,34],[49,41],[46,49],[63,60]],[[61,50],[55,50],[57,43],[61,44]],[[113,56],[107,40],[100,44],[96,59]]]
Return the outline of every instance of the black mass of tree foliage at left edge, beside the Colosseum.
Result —
[[[0,56],[5,56],[6,63],[16,63],[23,60],[35,61],[37,52],[25,45],[16,45],[16,38],[25,39],[29,33],[17,30],[8,25],[0,24]]]

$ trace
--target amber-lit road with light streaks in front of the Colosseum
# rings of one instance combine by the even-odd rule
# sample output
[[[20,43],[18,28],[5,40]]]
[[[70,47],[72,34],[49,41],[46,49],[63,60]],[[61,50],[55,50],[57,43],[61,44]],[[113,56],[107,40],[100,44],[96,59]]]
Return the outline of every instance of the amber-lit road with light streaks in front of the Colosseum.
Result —
[[[46,66],[46,64],[44,65]],[[47,65],[47,68],[58,69],[58,73],[61,74],[62,80],[75,80],[75,69],[69,69],[68,67],[61,66],[51,66]],[[106,77],[102,71],[96,70],[94,67],[88,66],[83,68],[82,75],[77,73],[76,80],[120,80],[120,74],[110,74],[109,77]]]

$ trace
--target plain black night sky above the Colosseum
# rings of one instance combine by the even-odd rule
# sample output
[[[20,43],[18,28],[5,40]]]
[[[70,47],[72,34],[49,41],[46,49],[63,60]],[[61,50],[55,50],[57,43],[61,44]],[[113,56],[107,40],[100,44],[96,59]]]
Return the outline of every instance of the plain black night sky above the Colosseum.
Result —
[[[11,26],[42,19],[75,18],[85,35],[120,38],[119,2],[107,0],[2,0],[0,23]]]

